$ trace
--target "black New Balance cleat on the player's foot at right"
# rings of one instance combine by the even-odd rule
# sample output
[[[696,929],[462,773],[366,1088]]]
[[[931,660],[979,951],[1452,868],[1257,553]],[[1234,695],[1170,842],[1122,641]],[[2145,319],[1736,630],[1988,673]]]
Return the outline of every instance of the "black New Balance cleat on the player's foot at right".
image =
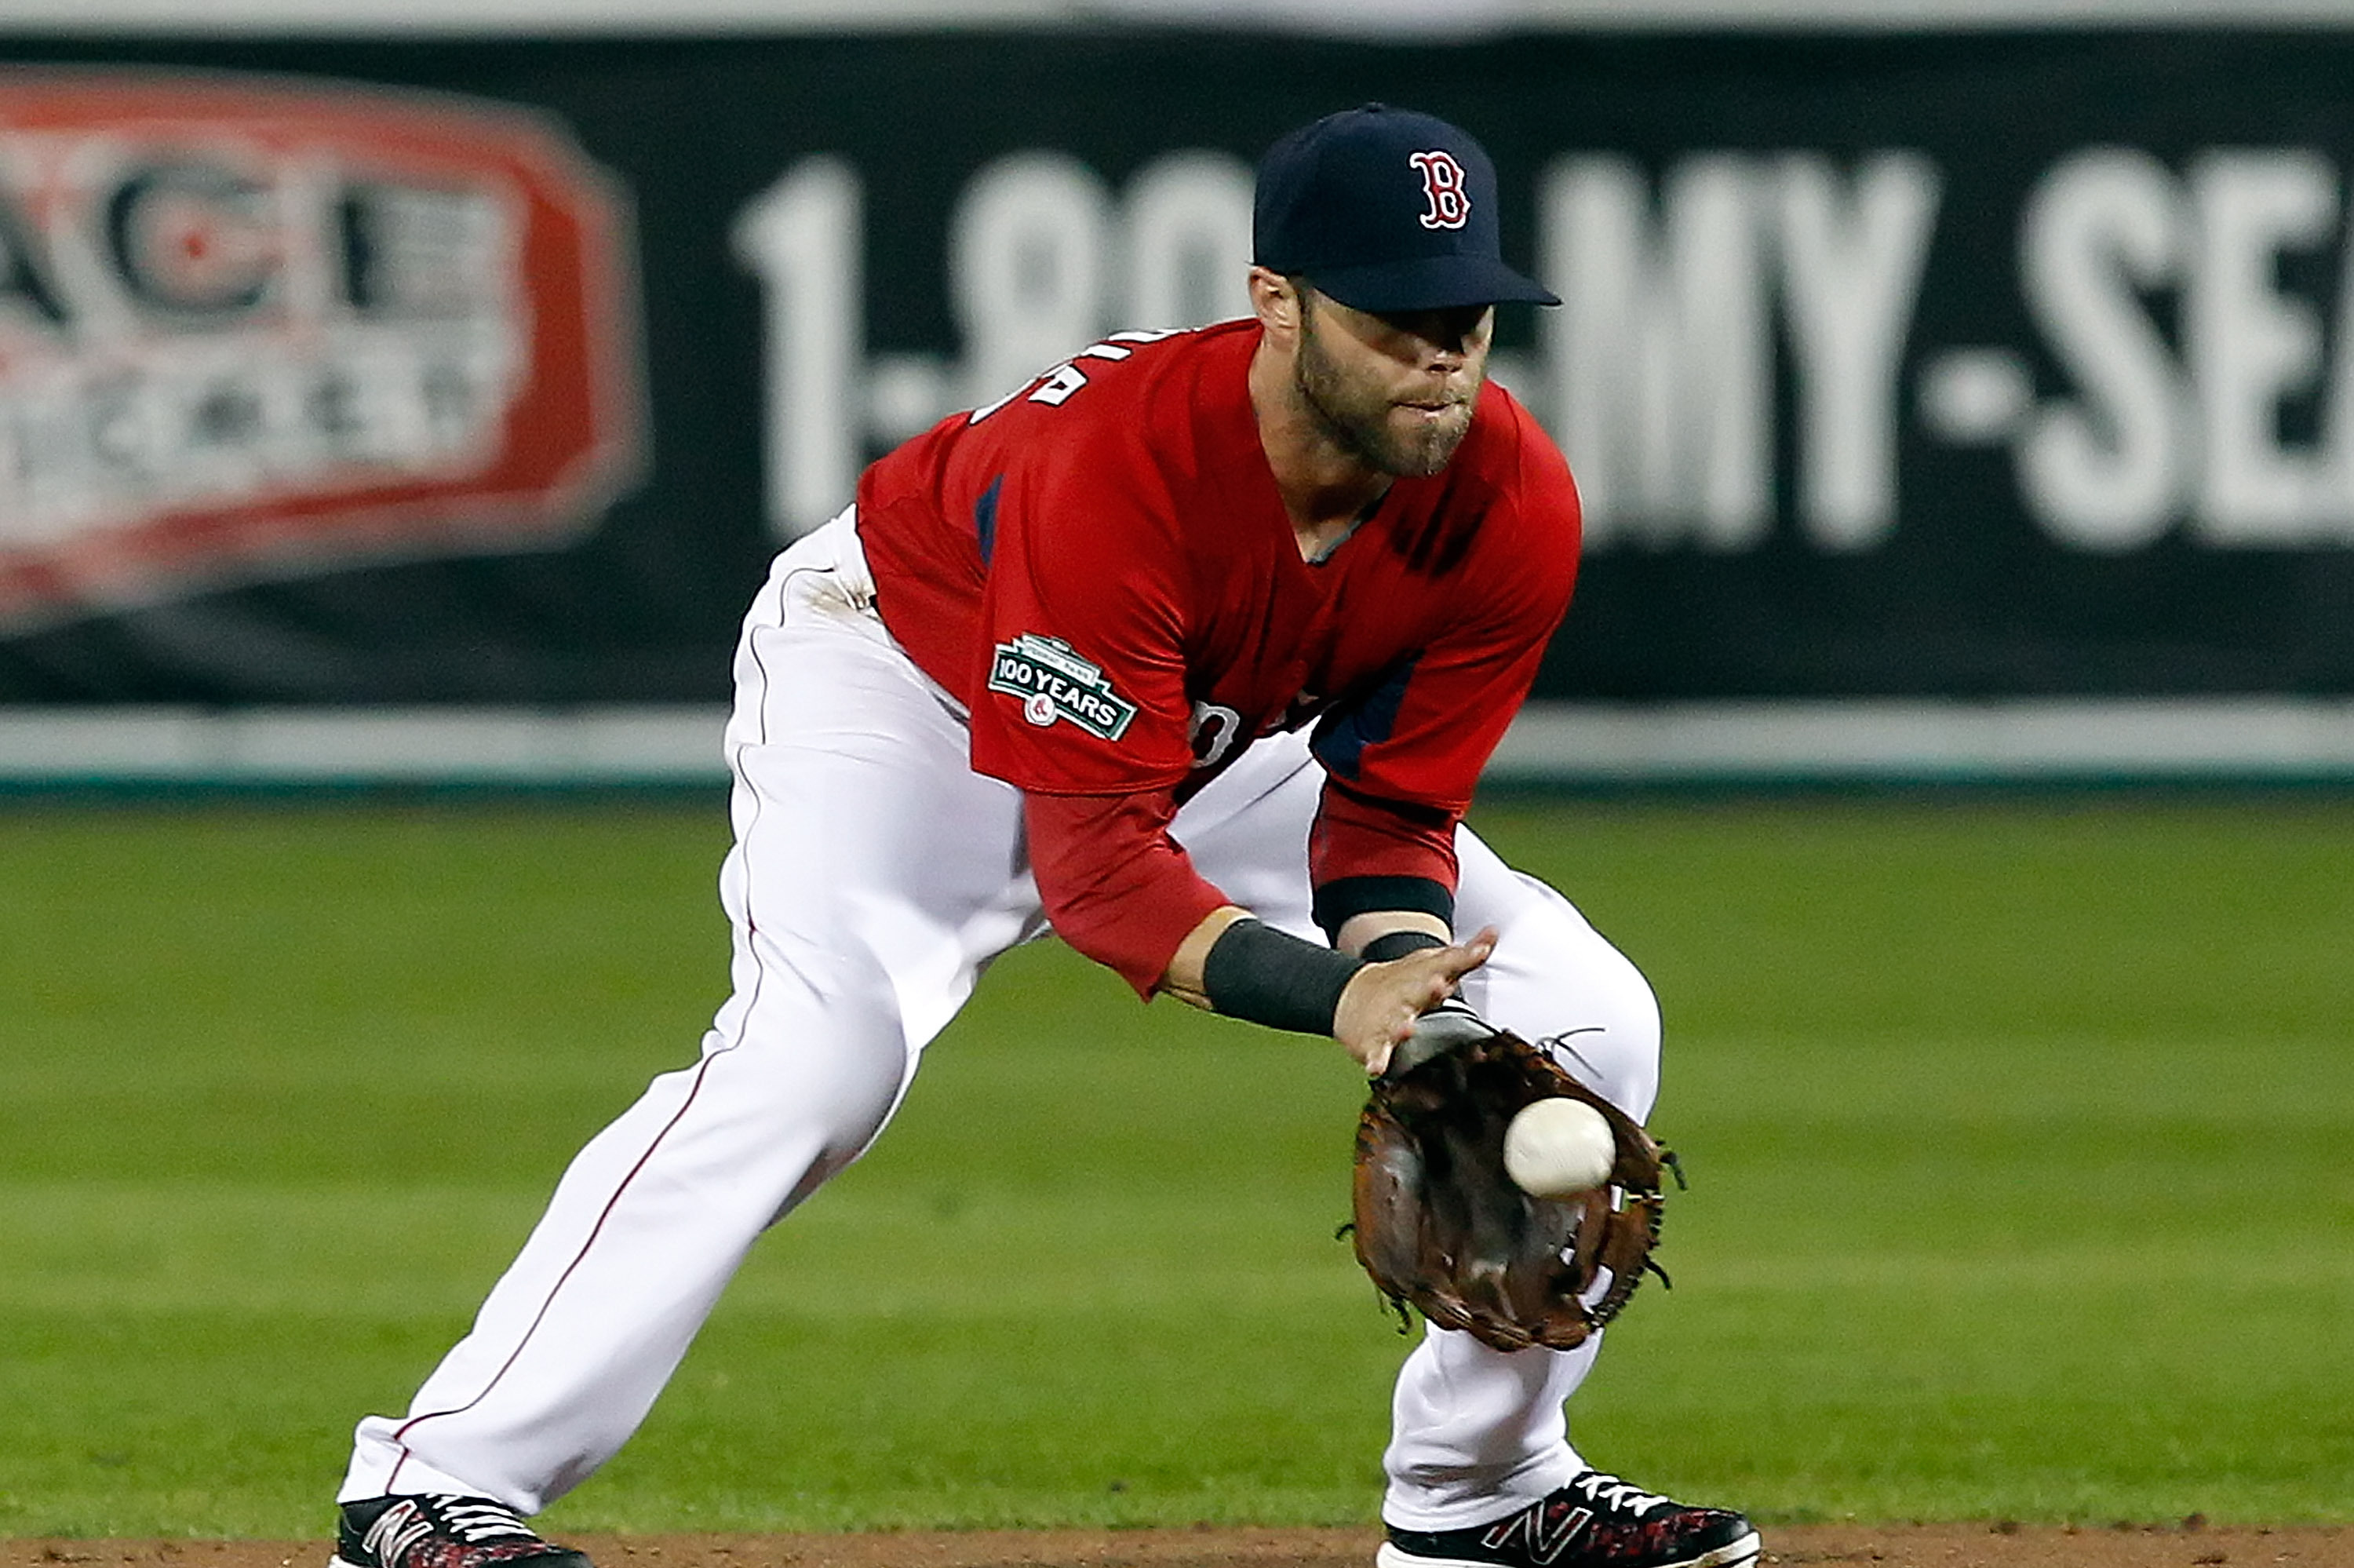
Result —
[[[1558,1493],[1462,1530],[1389,1528],[1379,1568],[1747,1568],[1758,1533],[1589,1469]]]

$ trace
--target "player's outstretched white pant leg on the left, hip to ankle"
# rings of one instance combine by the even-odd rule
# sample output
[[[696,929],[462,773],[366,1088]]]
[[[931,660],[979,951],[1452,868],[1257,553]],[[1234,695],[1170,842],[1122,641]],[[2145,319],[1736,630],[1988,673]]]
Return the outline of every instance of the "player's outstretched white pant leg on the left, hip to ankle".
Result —
[[[734,994],[565,1172],[410,1415],[360,1424],[344,1500],[534,1511],[638,1427],[751,1241],[897,1107],[979,968],[1036,928],[1019,798],[871,619],[855,551],[789,551],[746,619],[720,873]],[[379,1554],[381,1556],[381,1554]]]

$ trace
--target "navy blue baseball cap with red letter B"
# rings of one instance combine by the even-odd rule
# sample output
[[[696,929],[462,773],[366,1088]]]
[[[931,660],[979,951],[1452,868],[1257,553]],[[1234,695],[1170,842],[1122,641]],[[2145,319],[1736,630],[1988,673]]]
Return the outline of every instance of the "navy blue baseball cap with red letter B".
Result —
[[[1469,132],[1365,104],[1259,158],[1252,261],[1372,313],[1561,304],[1504,266],[1495,210],[1495,165]]]

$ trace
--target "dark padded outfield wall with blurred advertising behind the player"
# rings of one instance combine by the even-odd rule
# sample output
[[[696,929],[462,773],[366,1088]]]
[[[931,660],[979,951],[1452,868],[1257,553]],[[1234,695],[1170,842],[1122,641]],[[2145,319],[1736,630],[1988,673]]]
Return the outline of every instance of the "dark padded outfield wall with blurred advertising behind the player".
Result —
[[[1568,301],[1497,777],[2354,779],[2354,5],[1252,24],[0,7],[0,782],[716,777],[777,544],[1238,313],[1250,160],[1361,99]]]

